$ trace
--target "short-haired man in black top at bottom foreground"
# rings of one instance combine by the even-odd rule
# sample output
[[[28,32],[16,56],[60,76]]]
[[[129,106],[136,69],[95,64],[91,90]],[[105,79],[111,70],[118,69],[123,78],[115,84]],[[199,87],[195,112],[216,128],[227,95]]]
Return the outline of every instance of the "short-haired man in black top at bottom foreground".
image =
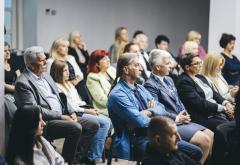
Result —
[[[153,117],[148,126],[149,144],[143,165],[196,165],[198,162],[178,150],[181,139],[173,120]]]

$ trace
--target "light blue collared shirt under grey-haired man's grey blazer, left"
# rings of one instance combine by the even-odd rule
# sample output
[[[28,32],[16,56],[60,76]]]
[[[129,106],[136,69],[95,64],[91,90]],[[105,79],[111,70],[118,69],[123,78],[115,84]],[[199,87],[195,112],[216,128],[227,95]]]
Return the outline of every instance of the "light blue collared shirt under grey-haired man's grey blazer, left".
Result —
[[[40,77],[35,75],[29,69],[28,73],[30,78],[36,85],[36,87],[41,90],[41,93],[44,95],[44,98],[47,100],[51,110],[60,112],[62,114],[62,105],[60,100],[58,99],[57,95],[53,92],[51,86],[48,84],[47,80],[45,79],[44,75],[42,74]]]

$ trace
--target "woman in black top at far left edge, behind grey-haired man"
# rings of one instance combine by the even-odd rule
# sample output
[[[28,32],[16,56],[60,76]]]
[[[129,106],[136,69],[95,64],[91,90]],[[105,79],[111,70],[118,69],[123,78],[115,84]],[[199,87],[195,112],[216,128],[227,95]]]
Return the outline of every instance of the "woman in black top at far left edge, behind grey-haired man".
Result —
[[[9,60],[11,58],[10,53],[10,45],[5,42],[4,43],[4,71],[5,71],[5,95],[8,97],[12,102],[14,102],[13,93],[15,90],[15,80],[20,75],[20,71],[14,69],[13,66],[10,65]]]

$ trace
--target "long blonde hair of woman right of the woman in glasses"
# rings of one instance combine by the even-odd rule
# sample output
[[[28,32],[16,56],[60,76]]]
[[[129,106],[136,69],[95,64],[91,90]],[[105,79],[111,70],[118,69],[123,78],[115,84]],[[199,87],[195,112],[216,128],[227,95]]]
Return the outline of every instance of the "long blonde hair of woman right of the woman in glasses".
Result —
[[[220,53],[208,53],[203,61],[202,74],[209,78],[215,78],[218,75],[217,67],[220,66],[220,63],[222,66],[225,63],[225,59]]]

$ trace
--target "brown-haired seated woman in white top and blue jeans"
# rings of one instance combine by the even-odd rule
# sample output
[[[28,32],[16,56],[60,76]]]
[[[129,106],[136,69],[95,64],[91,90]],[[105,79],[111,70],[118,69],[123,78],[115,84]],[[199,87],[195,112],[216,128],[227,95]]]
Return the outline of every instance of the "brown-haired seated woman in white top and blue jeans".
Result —
[[[104,149],[105,139],[111,128],[111,121],[109,118],[103,115],[99,115],[97,109],[84,108],[89,107],[79,97],[75,87],[68,81],[69,71],[68,65],[64,61],[55,60],[52,63],[50,74],[53,80],[56,82],[60,92],[63,92],[67,97],[67,102],[72,109],[82,117],[96,119],[100,124],[100,128],[95,135],[93,142],[88,152],[88,159],[90,161],[97,161],[101,159]]]

